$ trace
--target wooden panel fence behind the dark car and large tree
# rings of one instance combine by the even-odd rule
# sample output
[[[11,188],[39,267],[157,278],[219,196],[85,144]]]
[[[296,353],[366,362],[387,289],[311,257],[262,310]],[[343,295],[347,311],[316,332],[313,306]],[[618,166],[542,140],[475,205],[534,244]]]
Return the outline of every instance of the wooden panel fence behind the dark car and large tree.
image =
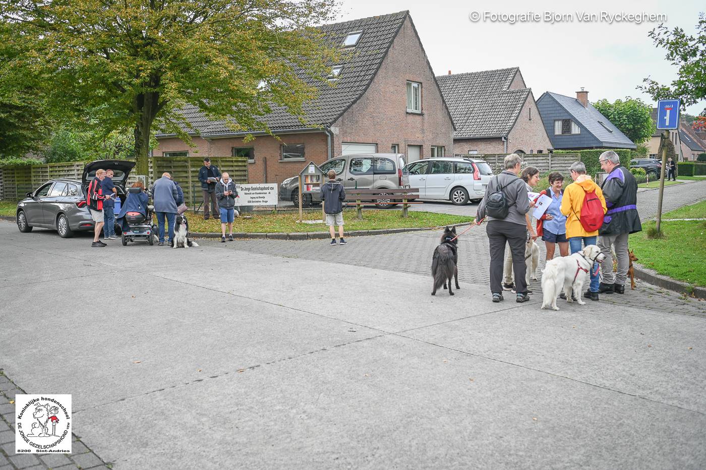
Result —
[[[227,171],[237,183],[248,182],[247,157],[210,157],[220,171]],[[198,203],[201,198],[201,182],[198,170],[203,166],[203,157],[152,157],[150,158],[150,183],[164,171],[168,171],[184,190],[184,200],[188,204]],[[49,163],[4,167],[0,171],[0,199],[20,200],[25,193],[34,191],[42,183],[56,178],[81,179],[83,162]],[[136,181],[135,171],[131,171],[128,184]]]

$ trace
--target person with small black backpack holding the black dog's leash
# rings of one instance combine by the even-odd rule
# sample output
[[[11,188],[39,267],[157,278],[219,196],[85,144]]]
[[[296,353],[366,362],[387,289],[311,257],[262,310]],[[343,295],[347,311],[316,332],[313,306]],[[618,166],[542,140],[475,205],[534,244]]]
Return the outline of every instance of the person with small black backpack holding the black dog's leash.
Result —
[[[503,260],[505,243],[510,244],[515,273],[517,302],[530,300],[525,282],[525,242],[527,241],[527,218],[530,212],[530,198],[527,184],[518,178],[522,159],[511,154],[505,157],[505,171],[493,177],[486,187],[486,193],[478,206],[477,223],[488,218],[486,233],[490,245],[490,290],[493,302],[503,300]]]

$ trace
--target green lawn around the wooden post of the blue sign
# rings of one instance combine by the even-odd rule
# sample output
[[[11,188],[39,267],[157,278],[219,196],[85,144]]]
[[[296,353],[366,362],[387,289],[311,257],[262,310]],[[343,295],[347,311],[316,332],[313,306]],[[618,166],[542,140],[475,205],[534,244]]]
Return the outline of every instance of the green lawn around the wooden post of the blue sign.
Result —
[[[688,207],[692,207],[688,209]],[[693,214],[706,211],[706,201],[666,212],[664,219],[681,218],[687,210]],[[706,286],[706,222],[679,220],[662,222],[663,239],[647,239],[647,229],[654,222],[645,222],[642,231],[630,235],[630,249],[635,251],[643,266],[683,282]]]

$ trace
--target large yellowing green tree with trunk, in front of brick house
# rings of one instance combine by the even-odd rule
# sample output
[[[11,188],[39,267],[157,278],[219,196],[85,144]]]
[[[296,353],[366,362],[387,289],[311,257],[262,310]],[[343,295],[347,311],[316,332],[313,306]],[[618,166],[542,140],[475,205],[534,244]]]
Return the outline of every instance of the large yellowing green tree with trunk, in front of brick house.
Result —
[[[146,174],[153,126],[188,139],[186,104],[235,131],[268,131],[273,106],[302,116],[340,57],[312,27],[334,1],[0,0],[0,39],[16,85],[104,135],[131,129]]]

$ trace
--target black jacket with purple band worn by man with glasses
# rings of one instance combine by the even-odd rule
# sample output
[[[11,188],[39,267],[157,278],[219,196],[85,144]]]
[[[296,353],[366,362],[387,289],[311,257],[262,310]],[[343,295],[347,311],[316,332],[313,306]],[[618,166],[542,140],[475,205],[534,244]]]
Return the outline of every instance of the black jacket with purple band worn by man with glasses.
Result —
[[[634,234],[642,230],[638,214],[638,182],[626,167],[618,165],[601,185],[606,212],[599,235]]]

